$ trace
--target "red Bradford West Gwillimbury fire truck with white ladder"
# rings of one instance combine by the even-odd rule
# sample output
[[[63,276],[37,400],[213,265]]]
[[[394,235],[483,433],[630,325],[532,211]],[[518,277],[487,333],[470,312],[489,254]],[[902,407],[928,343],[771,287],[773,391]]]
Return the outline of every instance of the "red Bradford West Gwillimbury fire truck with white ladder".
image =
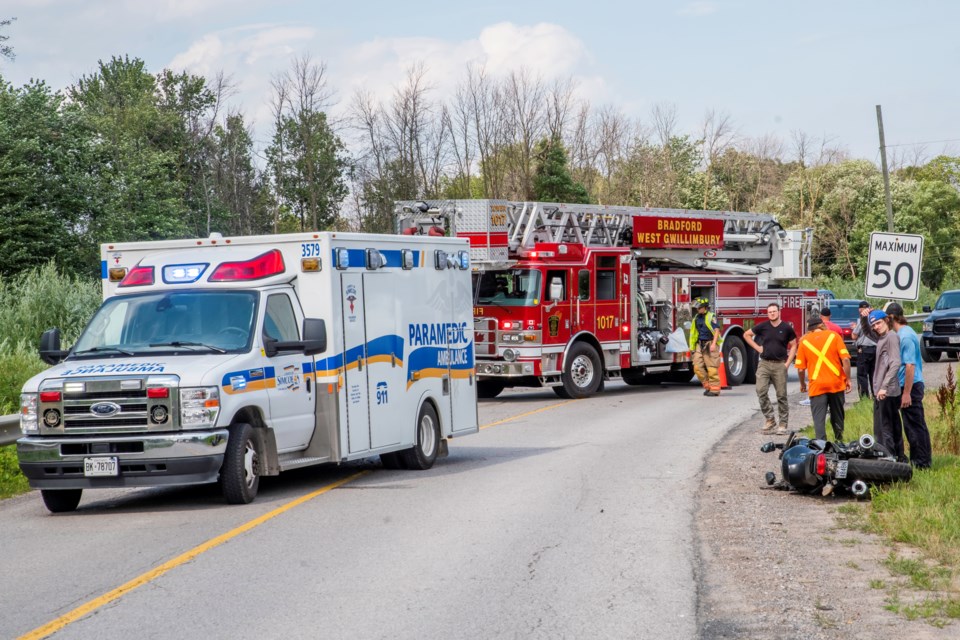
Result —
[[[395,214],[401,234],[470,242],[482,398],[689,382],[699,297],[720,318],[728,383],[753,383],[743,335],[767,305],[798,335],[819,306],[816,290],[783,286],[810,277],[812,230],[769,214],[505,200],[400,201]]]

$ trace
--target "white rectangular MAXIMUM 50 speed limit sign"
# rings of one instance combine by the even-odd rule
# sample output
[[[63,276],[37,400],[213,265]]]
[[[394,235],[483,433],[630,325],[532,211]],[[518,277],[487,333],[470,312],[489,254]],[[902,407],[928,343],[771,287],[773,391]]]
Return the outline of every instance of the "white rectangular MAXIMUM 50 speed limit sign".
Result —
[[[923,236],[871,233],[867,297],[916,300],[922,262]]]

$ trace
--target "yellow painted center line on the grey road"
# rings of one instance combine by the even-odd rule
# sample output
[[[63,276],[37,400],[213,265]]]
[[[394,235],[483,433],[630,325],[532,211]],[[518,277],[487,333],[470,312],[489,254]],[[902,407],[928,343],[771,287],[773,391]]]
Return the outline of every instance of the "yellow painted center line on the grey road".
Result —
[[[558,407],[562,407],[562,406],[564,406],[564,405],[570,404],[571,402],[576,402],[576,400],[567,400],[566,402],[558,402],[558,403],[556,403],[556,404],[552,404],[552,405],[549,405],[549,406],[546,406],[546,407],[540,407],[539,409],[534,409],[534,410],[532,410],[532,411],[527,411],[526,413],[520,413],[520,414],[517,414],[517,415],[515,415],[515,416],[510,416],[509,418],[504,418],[504,419],[502,419],[502,420],[497,420],[496,422],[491,422],[491,423],[489,423],[489,424],[482,425],[482,426],[480,426],[479,428],[480,428],[480,429],[489,429],[490,427],[495,427],[495,426],[497,426],[498,424],[504,424],[504,423],[506,423],[506,422],[511,422],[511,421],[517,420],[517,419],[519,419],[519,418],[525,418],[525,417],[527,417],[527,416],[532,416],[533,414],[535,414],[535,413],[540,413],[541,411],[549,411],[550,409],[556,409],[556,408],[558,408]],[[143,585],[145,585],[145,584],[147,584],[147,583],[149,583],[149,582],[152,582],[152,581],[156,580],[157,578],[159,578],[159,577],[162,576],[163,574],[165,574],[165,573],[167,573],[167,572],[169,572],[169,571],[171,571],[171,570],[173,570],[173,569],[176,569],[176,568],[179,567],[180,565],[183,565],[183,564],[186,564],[187,562],[190,562],[191,560],[193,560],[194,558],[196,558],[196,557],[199,556],[200,554],[205,553],[205,552],[209,551],[210,549],[213,549],[214,547],[217,547],[217,546],[223,544],[224,542],[227,542],[228,540],[232,540],[233,538],[236,538],[236,537],[239,536],[241,533],[246,533],[247,531],[250,531],[251,529],[254,529],[254,528],[256,528],[256,527],[259,527],[259,526],[260,526],[261,524],[263,524],[264,522],[267,522],[268,520],[271,520],[271,519],[273,519],[273,518],[276,518],[277,516],[279,516],[279,515],[281,515],[281,514],[283,514],[283,513],[286,513],[286,512],[289,511],[290,509],[293,509],[294,507],[300,506],[300,505],[303,504],[304,502],[307,502],[307,501],[309,501],[309,500],[313,500],[313,499],[316,498],[317,496],[323,495],[324,493],[327,493],[328,491],[331,491],[332,489],[336,489],[337,487],[343,486],[343,485],[347,484],[348,482],[353,482],[353,481],[356,480],[357,478],[360,478],[361,476],[366,475],[367,473],[369,473],[369,471],[361,471],[361,472],[355,473],[355,474],[353,474],[353,475],[351,475],[351,476],[347,476],[346,478],[343,478],[342,480],[337,480],[336,482],[333,482],[333,483],[328,484],[328,485],[326,485],[326,486],[324,486],[324,487],[321,487],[320,489],[317,489],[316,491],[313,491],[313,492],[308,493],[308,494],[306,494],[306,495],[300,496],[299,498],[296,498],[295,500],[291,500],[290,502],[288,502],[288,503],[286,503],[286,504],[284,504],[284,505],[282,505],[282,506],[280,506],[280,507],[277,507],[277,508],[274,509],[273,511],[269,511],[269,512],[263,514],[262,516],[259,516],[259,517],[257,517],[257,518],[254,518],[253,520],[250,520],[249,522],[246,522],[246,523],[240,525],[239,527],[236,527],[236,528],[234,528],[234,529],[231,529],[230,531],[227,531],[226,533],[217,536],[216,538],[211,538],[210,540],[207,540],[207,541],[204,542],[203,544],[201,544],[201,545],[199,545],[199,546],[196,546],[196,547],[194,547],[193,549],[190,549],[189,551],[187,551],[187,552],[185,552],[185,553],[180,554],[180,555],[177,556],[176,558],[173,558],[172,560],[168,560],[167,562],[164,562],[163,564],[154,567],[154,568],[151,569],[150,571],[147,571],[146,573],[143,573],[143,574],[137,576],[137,577],[134,578],[133,580],[130,580],[129,582],[120,585],[120,586],[117,587],[116,589],[113,589],[112,591],[108,591],[107,593],[103,594],[102,596],[99,596],[99,597],[97,597],[97,598],[94,598],[93,600],[90,600],[89,602],[86,602],[86,603],[80,605],[80,606],[77,607],[76,609],[74,609],[74,610],[72,610],[72,611],[70,611],[70,612],[68,612],[68,613],[63,614],[62,616],[60,616],[60,617],[57,618],[56,620],[52,620],[52,621],[48,622],[47,624],[43,625],[42,627],[37,627],[37,628],[34,629],[33,631],[30,631],[30,632],[28,632],[28,633],[20,636],[20,638],[18,638],[18,640],[39,640],[40,638],[46,638],[46,637],[48,637],[48,636],[56,633],[57,631],[63,629],[63,628],[66,627],[68,624],[71,624],[71,623],[73,623],[73,622],[76,622],[76,621],[79,620],[80,618],[84,617],[85,615],[87,615],[87,614],[89,614],[89,613],[91,613],[91,612],[93,612],[93,611],[96,611],[96,610],[99,609],[100,607],[102,607],[102,606],[104,606],[104,605],[106,605],[106,604],[109,604],[109,603],[113,602],[114,600],[117,600],[117,599],[123,597],[124,595],[130,593],[130,592],[133,591],[134,589],[137,589],[137,588],[139,588],[139,587],[142,587]]]

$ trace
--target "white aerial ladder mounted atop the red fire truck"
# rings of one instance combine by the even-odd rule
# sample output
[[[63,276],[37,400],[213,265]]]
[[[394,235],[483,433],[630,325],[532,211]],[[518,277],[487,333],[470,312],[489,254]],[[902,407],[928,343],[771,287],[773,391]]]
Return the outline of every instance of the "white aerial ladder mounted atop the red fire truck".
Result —
[[[813,230],[784,229],[766,213],[506,200],[400,201],[395,212],[399,233],[467,237],[471,259],[481,268],[507,267],[536,244],[552,243],[631,247],[639,261],[661,268],[744,273],[774,282],[810,277]],[[721,241],[709,247],[644,246],[634,233],[638,218],[709,221]]]

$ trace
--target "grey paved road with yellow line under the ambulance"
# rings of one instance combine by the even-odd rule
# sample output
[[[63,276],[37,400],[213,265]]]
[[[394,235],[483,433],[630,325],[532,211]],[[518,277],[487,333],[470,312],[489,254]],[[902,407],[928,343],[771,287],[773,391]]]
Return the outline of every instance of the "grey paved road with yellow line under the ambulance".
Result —
[[[0,502],[0,637],[695,637],[698,476],[755,412],[752,386],[508,391],[427,472],[303,469],[244,506],[88,491],[56,516],[32,492]]]

